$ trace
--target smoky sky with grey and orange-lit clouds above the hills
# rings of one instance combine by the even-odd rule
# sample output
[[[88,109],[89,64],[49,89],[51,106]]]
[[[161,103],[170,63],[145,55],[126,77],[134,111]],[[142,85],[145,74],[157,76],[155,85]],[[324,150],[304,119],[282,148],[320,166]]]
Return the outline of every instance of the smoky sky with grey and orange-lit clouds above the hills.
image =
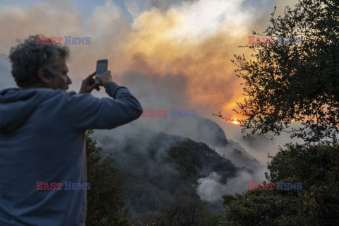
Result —
[[[195,109],[216,121],[227,138],[266,162],[267,153],[289,142],[288,136],[244,141],[239,125],[214,117],[243,119],[232,109],[241,102],[242,81],[232,64],[234,54],[253,31],[263,32],[270,13],[277,14],[295,0],[0,0],[0,54],[29,35],[90,37],[90,44],[70,44],[70,90],[95,71],[98,59],[108,59],[114,81],[126,85],[143,108]],[[1,63],[1,62],[0,62]],[[1,66],[1,64],[0,64]],[[8,69],[9,70],[9,69]],[[9,73],[0,75],[0,88],[13,85]],[[105,91],[93,90],[105,96]],[[287,142],[285,142],[287,141]]]

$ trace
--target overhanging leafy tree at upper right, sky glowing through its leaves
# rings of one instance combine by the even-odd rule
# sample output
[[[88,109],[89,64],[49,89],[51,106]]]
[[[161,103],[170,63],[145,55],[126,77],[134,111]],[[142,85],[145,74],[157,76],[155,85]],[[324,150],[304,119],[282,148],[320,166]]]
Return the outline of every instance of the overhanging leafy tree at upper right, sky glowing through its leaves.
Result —
[[[256,51],[251,59],[234,56],[244,79],[246,99],[236,111],[248,117],[243,131],[289,131],[309,142],[332,137],[339,123],[339,1],[299,0],[283,16],[274,11],[270,22],[263,35],[302,37],[302,44],[257,42],[246,46]]]

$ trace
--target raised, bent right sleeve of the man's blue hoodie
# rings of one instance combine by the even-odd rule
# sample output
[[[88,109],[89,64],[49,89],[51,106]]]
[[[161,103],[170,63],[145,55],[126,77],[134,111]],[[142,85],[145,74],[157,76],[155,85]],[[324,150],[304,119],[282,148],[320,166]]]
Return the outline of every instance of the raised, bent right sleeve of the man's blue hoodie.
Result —
[[[113,129],[138,119],[143,113],[140,103],[126,87],[111,82],[106,93],[114,99],[97,98],[89,93],[69,97],[67,110],[76,129]]]

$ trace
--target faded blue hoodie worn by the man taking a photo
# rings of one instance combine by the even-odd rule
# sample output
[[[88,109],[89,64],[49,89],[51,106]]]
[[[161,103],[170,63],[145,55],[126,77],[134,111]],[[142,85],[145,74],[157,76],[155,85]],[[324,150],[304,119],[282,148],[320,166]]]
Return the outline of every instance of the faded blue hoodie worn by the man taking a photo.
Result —
[[[143,112],[127,88],[111,82],[106,93],[114,99],[49,88],[0,91],[0,225],[85,225],[85,189],[64,189],[65,182],[87,182],[85,131],[113,129]],[[37,182],[64,185],[40,191]]]

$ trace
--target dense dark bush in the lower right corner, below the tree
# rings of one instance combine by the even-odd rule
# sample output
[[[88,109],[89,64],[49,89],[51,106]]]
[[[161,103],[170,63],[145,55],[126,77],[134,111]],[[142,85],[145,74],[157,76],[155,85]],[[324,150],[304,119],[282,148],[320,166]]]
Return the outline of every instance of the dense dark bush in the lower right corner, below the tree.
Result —
[[[302,182],[302,190],[226,194],[228,210],[221,225],[339,225],[338,166],[338,143],[280,148],[268,165],[266,179]]]

